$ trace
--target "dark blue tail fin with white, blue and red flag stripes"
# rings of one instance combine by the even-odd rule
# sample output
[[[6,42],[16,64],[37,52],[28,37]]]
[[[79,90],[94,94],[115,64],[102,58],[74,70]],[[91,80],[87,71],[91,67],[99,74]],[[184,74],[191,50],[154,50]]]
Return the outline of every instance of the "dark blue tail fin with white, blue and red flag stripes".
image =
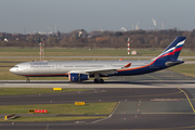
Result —
[[[154,58],[154,61],[177,61],[184,42],[185,37],[176,38],[160,55]]]

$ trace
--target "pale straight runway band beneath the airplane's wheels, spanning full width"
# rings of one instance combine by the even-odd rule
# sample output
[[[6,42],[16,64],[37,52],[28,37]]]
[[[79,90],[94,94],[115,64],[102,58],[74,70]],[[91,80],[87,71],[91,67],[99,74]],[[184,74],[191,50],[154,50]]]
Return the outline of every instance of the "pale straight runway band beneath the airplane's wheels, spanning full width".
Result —
[[[107,81],[107,82],[106,82]],[[74,83],[69,81],[31,80],[26,83],[24,80],[0,80],[0,88],[195,88],[195,80],[135,80],[117,81],[106,80],[105,83],[93,83],[86,81]]]

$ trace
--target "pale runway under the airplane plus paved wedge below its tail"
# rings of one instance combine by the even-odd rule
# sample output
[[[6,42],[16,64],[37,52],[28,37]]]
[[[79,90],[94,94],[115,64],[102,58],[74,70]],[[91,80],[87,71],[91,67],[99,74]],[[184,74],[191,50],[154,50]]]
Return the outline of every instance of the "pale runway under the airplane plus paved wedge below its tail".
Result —
[[[171,84],[171,86],[170,86]],[[87,80],[73,83],[67,80],[0,80],[0,88],[194,88],[195,78],[167,69],[141,76],[109,77],[104,83]]]

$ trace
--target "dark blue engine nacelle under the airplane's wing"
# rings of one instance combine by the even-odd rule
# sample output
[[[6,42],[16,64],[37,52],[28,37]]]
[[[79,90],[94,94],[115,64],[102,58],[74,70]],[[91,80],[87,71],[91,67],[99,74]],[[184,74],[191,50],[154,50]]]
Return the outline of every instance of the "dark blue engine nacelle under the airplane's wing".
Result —
[[[89,80],[89,75],[86,74],[68,74],[69,81],[78,82],[83,80]]]

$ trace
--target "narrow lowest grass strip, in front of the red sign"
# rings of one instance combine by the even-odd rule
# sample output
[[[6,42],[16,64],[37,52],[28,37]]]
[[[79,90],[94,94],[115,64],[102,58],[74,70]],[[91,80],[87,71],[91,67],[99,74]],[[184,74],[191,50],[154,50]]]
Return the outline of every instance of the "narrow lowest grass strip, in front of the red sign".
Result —
[[[15,119],[10,119],[6,121],[67,121],[67,120],[83,120],[83,119],[99,119],[99,118],[106,118],[106,116],[74,116],[74,117],[18,117]],[[0,121],[4,121],[3,119]]]

